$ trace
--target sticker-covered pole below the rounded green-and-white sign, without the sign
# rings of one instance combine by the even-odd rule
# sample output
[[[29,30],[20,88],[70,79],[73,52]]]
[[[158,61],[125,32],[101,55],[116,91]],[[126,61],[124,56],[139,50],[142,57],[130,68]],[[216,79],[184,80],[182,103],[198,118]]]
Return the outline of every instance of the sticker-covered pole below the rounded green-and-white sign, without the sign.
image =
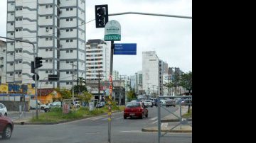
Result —
[[[110,52],[110,77],[112,77],[113,72],[113,55],[114,55],[114,41],[111,41],[111,52]],[[110,82],[110,86],[113,87],[113,83]],[[110,92],[110,103],[109,105],[109,113],[108,113],[108,143],[111,143],[111,101],[112,101],[112,92]]]

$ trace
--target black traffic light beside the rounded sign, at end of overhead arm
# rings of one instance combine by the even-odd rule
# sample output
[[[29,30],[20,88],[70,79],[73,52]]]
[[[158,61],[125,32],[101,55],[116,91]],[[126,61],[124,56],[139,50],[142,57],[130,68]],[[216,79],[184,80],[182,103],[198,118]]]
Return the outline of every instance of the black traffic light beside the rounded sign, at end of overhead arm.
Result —
[[[105,28],[108,22],[107,4],[95,5],[96,28]]]

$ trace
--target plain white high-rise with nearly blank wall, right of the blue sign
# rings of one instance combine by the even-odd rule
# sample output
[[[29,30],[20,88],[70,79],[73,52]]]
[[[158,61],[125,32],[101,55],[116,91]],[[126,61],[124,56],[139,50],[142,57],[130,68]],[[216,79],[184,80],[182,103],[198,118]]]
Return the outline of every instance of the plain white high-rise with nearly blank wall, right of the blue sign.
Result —
[[[159,57],[155,51],[142,52],[142,74],[146,94],[156,93],[159,86]]]

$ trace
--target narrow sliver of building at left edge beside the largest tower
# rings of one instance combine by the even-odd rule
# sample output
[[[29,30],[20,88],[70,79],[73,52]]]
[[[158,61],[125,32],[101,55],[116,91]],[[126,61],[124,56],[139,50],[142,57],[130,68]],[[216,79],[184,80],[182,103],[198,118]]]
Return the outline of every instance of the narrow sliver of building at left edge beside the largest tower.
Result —
[[[0,40],[0,84],[6,83],[6,42]]]

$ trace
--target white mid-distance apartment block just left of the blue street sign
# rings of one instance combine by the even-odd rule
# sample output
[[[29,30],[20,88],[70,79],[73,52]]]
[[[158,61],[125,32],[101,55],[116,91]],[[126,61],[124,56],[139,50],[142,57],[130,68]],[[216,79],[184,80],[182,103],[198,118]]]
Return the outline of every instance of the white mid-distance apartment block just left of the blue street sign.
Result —
[[[86,81],[97,82],[98,72],[100,79],[108,80],[110,76],[110,46],[100,39],[86,42]]]

